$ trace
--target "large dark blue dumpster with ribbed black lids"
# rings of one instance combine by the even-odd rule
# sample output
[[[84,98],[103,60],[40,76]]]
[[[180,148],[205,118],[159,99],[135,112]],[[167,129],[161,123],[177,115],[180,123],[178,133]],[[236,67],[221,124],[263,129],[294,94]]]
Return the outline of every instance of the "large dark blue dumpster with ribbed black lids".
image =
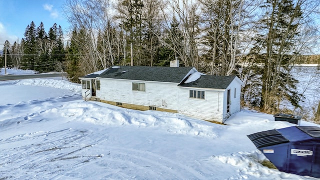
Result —
[[[320,127],[290,126],[247,136],[280,171],[320,177]]]

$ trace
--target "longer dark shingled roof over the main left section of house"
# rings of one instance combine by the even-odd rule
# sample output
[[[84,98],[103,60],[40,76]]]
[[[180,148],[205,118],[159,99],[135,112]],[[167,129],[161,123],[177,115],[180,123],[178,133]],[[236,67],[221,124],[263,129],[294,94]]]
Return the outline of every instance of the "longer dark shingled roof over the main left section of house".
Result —
[[[192,68],[193,67],[113,66],[106,69],[98,75],[98,77],[178,83]]]

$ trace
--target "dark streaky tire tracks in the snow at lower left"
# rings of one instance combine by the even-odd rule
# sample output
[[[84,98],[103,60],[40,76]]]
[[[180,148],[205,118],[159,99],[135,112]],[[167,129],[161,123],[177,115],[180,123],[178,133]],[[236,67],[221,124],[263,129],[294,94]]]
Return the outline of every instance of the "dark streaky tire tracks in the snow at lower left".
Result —
[[[27,136],[20,134],[7,138],[7,141],[3,140],[1,142],[1,146],[5,147],[6,143],[22,144],[28,141],[43,142],[41,136],[45,135],[45,133],[30,136],[30,134],[36,133],[37,132],[28,133]],[[69,133],[74,135],[68,135]],[[79,143],[82,140],[86,140],[84,137],[90,133],[91,132],[87,130],[66,128],[46,133],[51,134],[50,136],[53,137],[53,139],[44,141],[43,143],[0,148],[0,159],[3,159],[0,167],[4,167],[0,168],[0,174],[3,177],[11,176],[12,178],[20,179],[33,179],[35,176],[36,178],[46,179],[54,175],[55,172],[65,171],[68,170],[69,167],[85,164],[91,160],[100,158],[102,156],[101,154],[85,154],[83,150],[92,147],[92,144],[98,143],[98,141],[105,140],[105,138],[94,140],[93,143]],[[14,176],[12,174],[14,171],[19,171],[20,173],[16,174],[20,176]]]

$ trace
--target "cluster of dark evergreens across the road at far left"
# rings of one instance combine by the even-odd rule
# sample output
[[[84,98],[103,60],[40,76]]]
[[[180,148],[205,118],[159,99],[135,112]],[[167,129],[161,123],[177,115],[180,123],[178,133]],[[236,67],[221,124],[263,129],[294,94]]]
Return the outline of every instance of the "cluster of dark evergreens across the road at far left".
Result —
[[[5,51],[8,67],[38,72],[57,70],[57,65],[65,59],[62,28],[54,23],[46,32],[42,22],[36,27],[31,21],[20,42],[14,41],[12,45],[7,40],[4,42],[3,54]],[[1,60],[4,65],[4,56]]]

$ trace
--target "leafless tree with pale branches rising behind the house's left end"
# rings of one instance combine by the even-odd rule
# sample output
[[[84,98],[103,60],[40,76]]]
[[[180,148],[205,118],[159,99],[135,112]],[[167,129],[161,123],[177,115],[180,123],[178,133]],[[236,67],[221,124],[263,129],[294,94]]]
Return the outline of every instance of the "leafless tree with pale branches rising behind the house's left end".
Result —
[[[113,32],[111,4],[109,0],[66,0],[64,11],[73,27],[85,30],[85,41],[79,40],[83,48],[84,64],[91,66],[93,71],[107,68],[114,63],[115,54],[112,50]],[[100,50],[98,47],[98,33],[100,34]],[[81,37],[83,38],[83,37]]]

